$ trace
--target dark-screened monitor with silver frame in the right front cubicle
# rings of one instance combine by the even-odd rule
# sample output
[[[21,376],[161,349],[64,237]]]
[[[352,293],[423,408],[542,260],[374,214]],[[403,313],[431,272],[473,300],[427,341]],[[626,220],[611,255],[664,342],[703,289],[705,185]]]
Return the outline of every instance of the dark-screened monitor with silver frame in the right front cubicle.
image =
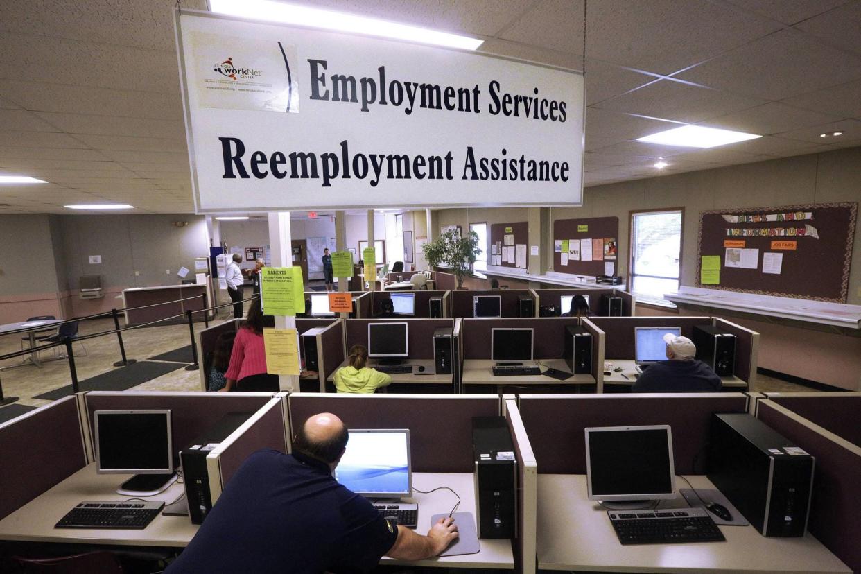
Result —
[[[660,500],[675,495],[669,425],[585,429],[589,500]]]

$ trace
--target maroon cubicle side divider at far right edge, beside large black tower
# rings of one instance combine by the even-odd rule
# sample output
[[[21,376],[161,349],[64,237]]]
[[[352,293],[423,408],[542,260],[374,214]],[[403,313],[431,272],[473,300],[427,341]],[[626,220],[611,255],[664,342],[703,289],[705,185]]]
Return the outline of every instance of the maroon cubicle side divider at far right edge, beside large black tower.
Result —
[[[800,402],[796,402],[797,407]],[[826,404],[821,405],[823,408]],[[851,423],[858,427],[858,409]],[[833,552],[852,571],[861,572],[861,447],[773,398],[757,403],[757,418],[815,457],[813,495],[810,498],[808,532]],[[850,424],[851,424],[850,423]]]

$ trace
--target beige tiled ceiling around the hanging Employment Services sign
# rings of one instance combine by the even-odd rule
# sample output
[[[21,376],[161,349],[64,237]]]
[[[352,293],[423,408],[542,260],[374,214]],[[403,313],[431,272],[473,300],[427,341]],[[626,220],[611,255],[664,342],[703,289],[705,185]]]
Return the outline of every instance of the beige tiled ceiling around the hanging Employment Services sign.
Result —
[[[582,0],[296,1],[582,67]],[[0,213],[193,211],[175,3],[0,2],[0,174],[50,182],[3,186]],[[587,186],[655,176],[659,157],[669,174],[861,145],[861,0],[592,0],[585,52]],[[701,151],[633,141],[680,122],[765,137]]]

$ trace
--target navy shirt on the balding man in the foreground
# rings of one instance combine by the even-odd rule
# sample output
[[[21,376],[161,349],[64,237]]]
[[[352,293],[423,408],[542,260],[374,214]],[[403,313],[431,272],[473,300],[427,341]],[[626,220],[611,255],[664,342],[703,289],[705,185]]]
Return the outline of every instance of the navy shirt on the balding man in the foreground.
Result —
[[[397,527],[325,464],[263,449],[230,479],[167,572],[365,572],[397,538]]]

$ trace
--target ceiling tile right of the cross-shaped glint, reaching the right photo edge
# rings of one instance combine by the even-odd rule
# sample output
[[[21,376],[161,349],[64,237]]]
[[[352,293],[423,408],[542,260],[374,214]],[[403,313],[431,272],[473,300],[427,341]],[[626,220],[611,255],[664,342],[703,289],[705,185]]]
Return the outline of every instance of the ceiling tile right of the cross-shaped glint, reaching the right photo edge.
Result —
[[[861,77],[861,62],[795,30],[782,30],[677,77],[712,88],[783,100]]]

